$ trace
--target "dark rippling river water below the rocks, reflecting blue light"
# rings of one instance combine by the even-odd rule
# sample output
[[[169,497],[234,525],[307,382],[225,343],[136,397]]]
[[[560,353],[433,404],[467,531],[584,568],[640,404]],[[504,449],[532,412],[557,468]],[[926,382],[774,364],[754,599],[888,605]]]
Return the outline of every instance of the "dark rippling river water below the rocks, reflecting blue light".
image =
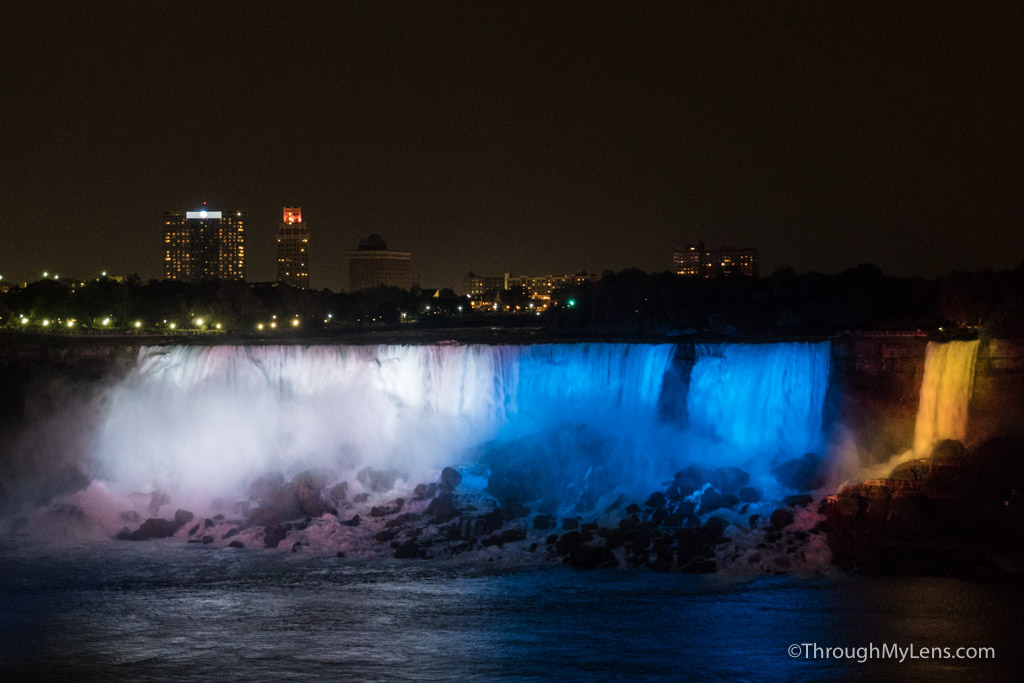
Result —
[[[0,680],[1013,680],[1019,584],[727,580],[168,543],[0,554]],[[991,646],[808,660],[794,643]]]

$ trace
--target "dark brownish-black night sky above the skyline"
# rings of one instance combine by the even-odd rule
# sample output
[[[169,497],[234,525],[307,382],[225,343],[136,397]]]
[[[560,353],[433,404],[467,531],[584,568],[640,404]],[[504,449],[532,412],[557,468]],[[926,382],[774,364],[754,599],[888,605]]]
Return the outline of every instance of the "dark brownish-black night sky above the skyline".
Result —
[[[315,287],[380,232],[424,287],[1024,259],[1021,2],[0,6],[0,274],[161,273],[160,212],[285,205]]]

